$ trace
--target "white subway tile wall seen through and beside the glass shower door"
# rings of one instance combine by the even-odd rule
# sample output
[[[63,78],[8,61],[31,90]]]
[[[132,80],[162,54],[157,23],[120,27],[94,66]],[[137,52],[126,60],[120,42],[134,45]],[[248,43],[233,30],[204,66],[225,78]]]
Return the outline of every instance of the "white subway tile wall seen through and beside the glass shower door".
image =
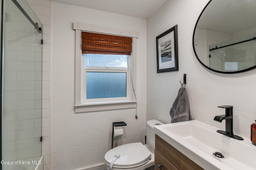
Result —
[[[26,161],[32,157],[39,160],[42,155],[44,170],[50,170],[51,1],[27,2],[43,24],[44,45],[42,47],[40,42],[34,43],[34,40],[41,39],[40,35],[35,33],[18,8],[6,0],[8,29],[5,29],[5,40],[8,42],[4,51],[7,75],[4,82],[4,108],[7,123],[3,135],[7,138],[7,147],[4,151],[7,153],[6,160]]]

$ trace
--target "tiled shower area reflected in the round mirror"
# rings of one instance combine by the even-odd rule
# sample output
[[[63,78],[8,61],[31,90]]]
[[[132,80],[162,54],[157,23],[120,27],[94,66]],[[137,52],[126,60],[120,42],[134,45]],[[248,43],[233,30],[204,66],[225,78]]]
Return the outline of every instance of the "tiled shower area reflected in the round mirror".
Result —
[[[209,63],[209,57],[208,57],[210,44],[222,43],[231,39],[236,39],[235,42],[239,42],[239,41],[245,40],[246,37],[247,39],[251,39],[254,37],[254,34],[252,34],[253,32],[256,32],[256,28],[251,28],[250,30],[244,30],[236,34],[213,32],[213,31],[206,30],[206,37],[205,37],[206,65],[209,66],[210,64],[211,68],[217,69],[220,71],[225,71],[224,64],[223,64],[224,62],[239,62],[238,64],[239,70],[254,66],[255,65],[254,41],[246,42],[238,45],[232,45],[230,47],[223,48],[221,50],[223,51],[222,53],[213,51],[211,53],[210,63]],[[218,46],[228,45],[230,43],[227,42],[227,44],[219,44]]]

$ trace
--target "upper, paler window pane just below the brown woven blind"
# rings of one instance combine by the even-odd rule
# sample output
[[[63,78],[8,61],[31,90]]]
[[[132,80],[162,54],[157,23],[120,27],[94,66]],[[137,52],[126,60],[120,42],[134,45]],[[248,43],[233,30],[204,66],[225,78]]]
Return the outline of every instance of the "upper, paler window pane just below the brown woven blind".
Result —
[[[123,67],[127,68],[129,55],[84,54],[84,67]]]

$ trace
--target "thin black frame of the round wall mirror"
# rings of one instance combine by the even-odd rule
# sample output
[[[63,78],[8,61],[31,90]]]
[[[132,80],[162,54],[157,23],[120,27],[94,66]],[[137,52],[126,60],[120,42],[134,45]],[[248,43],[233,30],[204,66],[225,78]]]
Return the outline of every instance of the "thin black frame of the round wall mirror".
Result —
[[[194,53],[196,55],[196,58],[197,60],[204,66],[206,67],[207,69],[211,70],[211,71],[214,71],[214,72],[217,72],[217,73],[223,73],[223,74],[234,74],[234,73],[242,73],[242,72],[245,72],[245,71],[248,71],[248,70],[251,70],[251,69],[254,69],[256,68],[256,65],[254,65],[253,67],[250,67],[250,68],[247,68],[247,69],[243,69],[243,70],[239,70],[239,71],[218,71],[218,70],[214,70],[210,67],[208,67],[207,65],[205,65],[198,57],[197,53],[196,53],[196,49],[195,49],[195,45],[194,45],[194,37],[195,37],[195,32],[196,32],[196,26],[198,24],[198,21],[200,19],[200,17],[202,16],[204,10],[206,9],[206,7],[210,4],[210,2],[212,2],[212,0],[210,0],[206,6],[204,7],[204,9],[202,10],[201,14],[199,15],[197,21],[196,21],[196,25],[195,25],[195,28],[194,28],[194,32],[193,32],[193,39],[192,39],[192,45],[193,45],[193,49],[194,49]]]

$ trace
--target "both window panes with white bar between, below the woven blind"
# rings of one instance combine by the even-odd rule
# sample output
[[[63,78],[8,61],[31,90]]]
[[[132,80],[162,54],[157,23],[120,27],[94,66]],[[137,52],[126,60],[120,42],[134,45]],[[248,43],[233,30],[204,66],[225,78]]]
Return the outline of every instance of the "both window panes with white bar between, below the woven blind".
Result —
[[[129,55],[84,55],[86,99],[127,97]],[[129,93],[129,92],[128,92]]]

